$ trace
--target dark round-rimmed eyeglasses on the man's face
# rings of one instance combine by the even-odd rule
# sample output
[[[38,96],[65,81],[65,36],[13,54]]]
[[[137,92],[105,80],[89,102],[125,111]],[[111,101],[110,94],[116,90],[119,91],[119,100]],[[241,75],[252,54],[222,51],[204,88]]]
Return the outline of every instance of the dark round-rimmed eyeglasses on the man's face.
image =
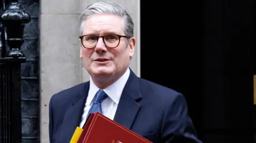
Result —
[[[105,46],[109,48],[117,47],[120,43],[121,37],[130,38],[127,36],[121,36],[121,35],[115,35],[115,34],[108,34],[105,36],[83,35],[83,36],[80,36],[79,38],[81,39],[82,45],[85,48],[94,48],[97,45],[100,37],[103,39],[103,43],[105,44]]]

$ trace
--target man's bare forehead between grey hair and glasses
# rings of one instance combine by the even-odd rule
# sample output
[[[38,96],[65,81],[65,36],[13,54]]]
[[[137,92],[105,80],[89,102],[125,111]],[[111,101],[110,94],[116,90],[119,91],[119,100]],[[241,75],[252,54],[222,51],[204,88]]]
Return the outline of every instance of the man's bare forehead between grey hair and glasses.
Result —
[[[123,20],[118,15],[94,14],[83,22],[83,35],[124,34]]]

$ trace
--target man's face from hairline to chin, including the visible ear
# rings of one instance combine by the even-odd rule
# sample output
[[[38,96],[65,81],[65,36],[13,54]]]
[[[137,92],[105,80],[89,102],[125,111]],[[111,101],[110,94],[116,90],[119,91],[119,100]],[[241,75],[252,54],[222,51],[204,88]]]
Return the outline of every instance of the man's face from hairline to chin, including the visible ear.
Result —
[[[124,35],[122,18],[116,15],[96,14],[90,16],[83,23],[83,35],[105,36],[108,34]],[[95,38],[89,37],[87,40]],[[113,39],[113,37],[106,38]],[[85,69],[92,75],[99,77],[119,75],[129,67],[130,57],[134,53],[135,38],[127,44],[125,37],[115,48],[107,47],[103,39],[99,38],[94,48],[85,48],[80,44],[80,57],[83,59]]]

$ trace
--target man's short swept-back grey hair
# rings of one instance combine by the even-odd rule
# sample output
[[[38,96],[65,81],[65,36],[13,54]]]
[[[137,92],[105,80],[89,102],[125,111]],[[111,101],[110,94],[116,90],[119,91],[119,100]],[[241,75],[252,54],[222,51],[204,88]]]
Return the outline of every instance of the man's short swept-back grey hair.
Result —
[[[79,16],[79,31],[82,36],[83,22],[93,14],[113,14],[120,16],[123,19],[124,34],[127,37],[134,35],[134,23],[131,16],[122,9],[121,6],[115,3],[98,2],[86,7],[85,11]]]

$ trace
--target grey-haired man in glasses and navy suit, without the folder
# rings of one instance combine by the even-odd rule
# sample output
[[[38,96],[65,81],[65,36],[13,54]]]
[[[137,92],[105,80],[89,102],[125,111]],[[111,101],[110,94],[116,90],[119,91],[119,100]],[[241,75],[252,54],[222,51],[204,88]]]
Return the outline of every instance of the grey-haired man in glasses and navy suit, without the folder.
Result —
[[[90,81],[52,96],[50,142],[68,143],[96,111],[153,142],[201,142],[185,98],[129,68],[136,43],[130,15],[117,4],[99,2],[80,19],[80,57]]]

